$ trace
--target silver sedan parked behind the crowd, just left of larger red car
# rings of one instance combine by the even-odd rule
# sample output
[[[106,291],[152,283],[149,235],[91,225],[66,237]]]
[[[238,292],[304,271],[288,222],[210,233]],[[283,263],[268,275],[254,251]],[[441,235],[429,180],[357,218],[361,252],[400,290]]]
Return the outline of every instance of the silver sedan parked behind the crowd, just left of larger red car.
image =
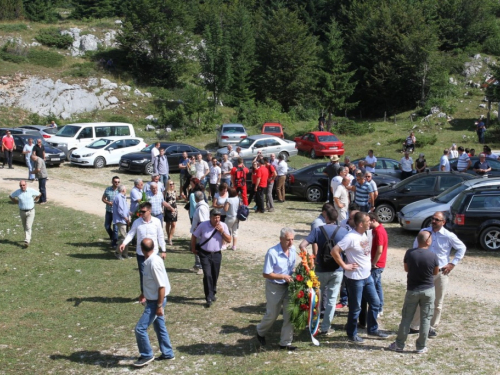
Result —
[[[298,152],[294,141],[266,134],[251,135],[241,140],[236,147],[241,147],[240,156],[242,158],[255,157],[260,152],[263,156],[283,155],[285,160],[288,160],[290,156],[297,155]],[[227,154],[227,147],[217,150],[218,157],[223,154]]]

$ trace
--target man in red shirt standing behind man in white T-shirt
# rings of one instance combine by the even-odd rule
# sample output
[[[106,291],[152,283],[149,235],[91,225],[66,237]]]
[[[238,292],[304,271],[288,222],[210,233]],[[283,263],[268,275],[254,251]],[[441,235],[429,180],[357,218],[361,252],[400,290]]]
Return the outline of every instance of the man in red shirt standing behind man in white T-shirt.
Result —
[[[373,212],[368,214],[370,216],[370,229],[372,230],[372,271],[371,276],[375,284],[378,298],[380,299],[380,310],[378,315],[382,316],[384,308],[384,292],[382,291],[382,272],[384,272],[385,264],[387,261],[387,246],[389,245],[389,237],[384,226],[380,223],[379,218]],[[359,314],[359,325],[366,326],[366,311],[368,305],[366,301],[361,301],[361,313]]]

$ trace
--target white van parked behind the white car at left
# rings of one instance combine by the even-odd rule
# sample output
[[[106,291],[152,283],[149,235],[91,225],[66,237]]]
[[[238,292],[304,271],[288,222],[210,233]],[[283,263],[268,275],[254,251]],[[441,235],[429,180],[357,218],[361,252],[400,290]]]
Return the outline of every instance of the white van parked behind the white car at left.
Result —
[[[63,126],[49,139],[49,144],[66,154],[66,159],[73,150],[86,146],[96,139],[103,137],[135,137],[132,124],[125,122],[95,122],[68,124]]]

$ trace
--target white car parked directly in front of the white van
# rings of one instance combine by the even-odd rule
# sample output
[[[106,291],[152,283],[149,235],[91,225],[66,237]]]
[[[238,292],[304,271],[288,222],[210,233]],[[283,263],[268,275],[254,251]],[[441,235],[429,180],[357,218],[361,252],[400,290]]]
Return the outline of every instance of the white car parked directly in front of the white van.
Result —
[[[138,137],[100,138],[72,151],[69,160],[71,164],[102,168],[106,165],[119,164],[123,155],[141,151],[146,146],[144,140]]]

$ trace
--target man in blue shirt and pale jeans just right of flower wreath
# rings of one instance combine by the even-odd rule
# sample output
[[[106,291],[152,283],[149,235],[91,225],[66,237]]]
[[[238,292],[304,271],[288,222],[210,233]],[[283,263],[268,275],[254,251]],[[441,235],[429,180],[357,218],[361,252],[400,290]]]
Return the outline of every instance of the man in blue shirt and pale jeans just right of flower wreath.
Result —
[[[335,305],[337,304],[340,285],[342,284],[342,278],[344,277],[344,270],[338,265],[332,266],[324,262],[324,245],[334,233],[334,241],[335,243],[338,243],[342,238],[344,238],[345,235],[347,235],[347,230],[340,227],[337,230],[337,211],[331,205],[327,207],[325,220],[326,225],[311,231],[311,233],[309,233],[309,235],[302,240],[299,248],[300,250],[305,251],[309,244],[316,244],[316,250],[314,250],[313,247],[313,255],[316,257],[315,272],[320,283],[321,296],[325,296],[325,312],[320,326],[320,334],[330,335],[335,332],[335,330],[331,328],[331,322],[333,321],[333,317],[335,315]],[[323,229],[328,238],[325,237]],[[328,251],[330,250],[331,249],[328,249]]]

